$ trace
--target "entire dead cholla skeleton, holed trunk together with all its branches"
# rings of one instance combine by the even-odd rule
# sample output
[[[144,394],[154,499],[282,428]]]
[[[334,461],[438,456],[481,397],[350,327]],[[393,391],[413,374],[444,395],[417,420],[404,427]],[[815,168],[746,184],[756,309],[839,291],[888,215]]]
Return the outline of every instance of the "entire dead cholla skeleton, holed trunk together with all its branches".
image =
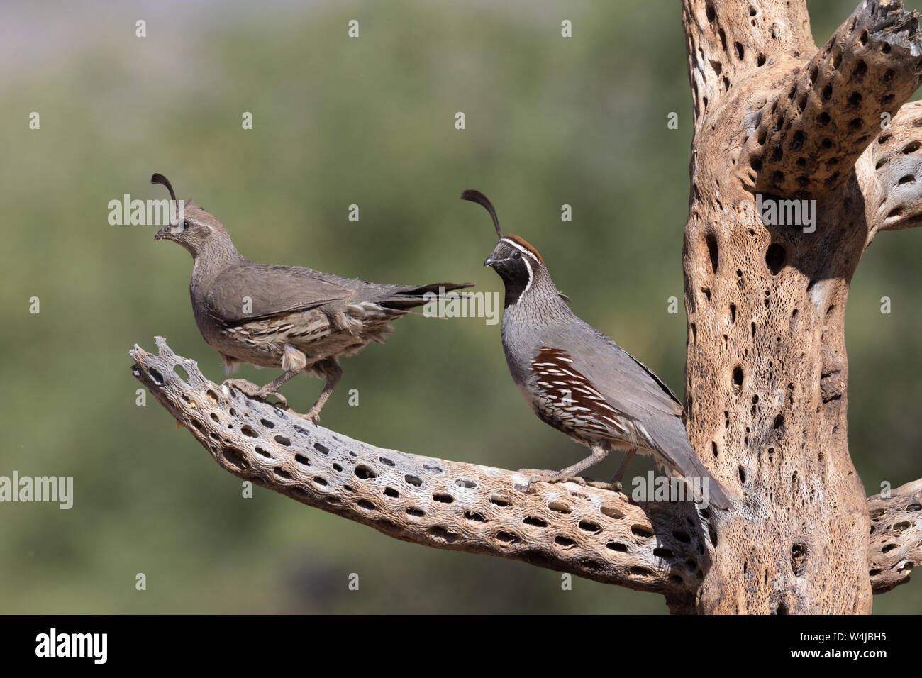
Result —
[[[904,105],[918,18],[866,2],[820,50],[802,0],[685,0],[683,21],[688,430],[734,510],[575,482],[524,494],[513,471],[296,420],[162,339],[160,355],[132,351],[136,376],[224,469],[397,539],[659,592],[673,612],[869,613],[922,557],[922,481],[865,498],[846,441],[845,301],[874,235],[922,222],[922,105]],[[760,219],[757,196],[815,200],[815,230]]]

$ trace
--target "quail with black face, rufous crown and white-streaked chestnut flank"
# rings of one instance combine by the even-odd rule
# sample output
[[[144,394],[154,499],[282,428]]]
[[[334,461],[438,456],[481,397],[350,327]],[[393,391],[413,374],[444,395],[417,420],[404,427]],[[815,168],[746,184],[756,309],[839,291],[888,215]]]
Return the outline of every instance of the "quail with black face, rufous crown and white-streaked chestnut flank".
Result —
[[[691,449],[675,394],[644,363],[570,310],[570,300],[554,286],[538,251],[517,235],[502,234],[487,196],[465,191],[461,197],[487,208],[500,239],[483,265],[505,284],[502,349],[515,385],[542,422],[591,450],[561,471],[522,470],[535,473],[528,484],[572,478],[617,448],[625,455],[612,482],[621,482],[640,451],[686,479],[700,479],[708,502],[727,508],[727,494]]]

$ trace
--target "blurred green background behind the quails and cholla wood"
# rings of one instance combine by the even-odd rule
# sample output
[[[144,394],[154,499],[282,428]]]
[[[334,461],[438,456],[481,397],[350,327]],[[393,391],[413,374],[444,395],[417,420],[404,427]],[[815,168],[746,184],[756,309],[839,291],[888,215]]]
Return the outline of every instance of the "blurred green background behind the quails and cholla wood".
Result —
[[[816,40],[855,5],[811,2]],[[458,199],[479,188],[574,310],[680,391],[684,312],[667,313],[682,298],[691,143],[679,3],[6,2],[0,38],[0,475],[75,478],[69,511],[0,505],[0,611],[666,613],[656,595],[582,579],[564,592],[557,573],[388,539],[261,488],[243,500],[153,398],[136,406],[127,351],[154,335],[223,373],[195,328],[190,257],[153,228],[109,225],[107,203],[165,197],[148,184],[163,172],[255,261],[499,291],[480,266],[490,221]],[[849,300],[850,445],[869,494],[922,475],[920,259],[922,231],[883,233]],[[350,436],[514,469],[582,454],[527,408],[482,320],[409,316],[343,367],[323,423]],[[301,377],[285,393],[303,411],[320,387]],[[874,602],[918,613],[922,583]]]

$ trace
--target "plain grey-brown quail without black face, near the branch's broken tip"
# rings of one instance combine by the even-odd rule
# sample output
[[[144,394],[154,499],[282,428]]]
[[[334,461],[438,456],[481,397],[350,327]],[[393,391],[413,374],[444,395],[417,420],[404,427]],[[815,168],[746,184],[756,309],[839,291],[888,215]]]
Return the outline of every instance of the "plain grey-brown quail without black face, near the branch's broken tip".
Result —
[[[150,183],[166,186],[175,203],[165,176],[154,174]],[[427,292],[471,285],[378,285],[310,268],[254,264],[237,252],[219,220],[191,202],[185,203],[182,223],[165,226],[155,237],[183,245],[195,260],[189,285],[195,324],[220,353],[225,372],[230,375],[242,363],[285,370],[264,387],[245,379],[225,383],[286,403],[278,388],[293,376],[309,372],[325,378],[316,403],[299,415],[313,422],[342,375],[339,356],[361,351],[372,340],[384,343],[394,330],[391,321],[427,303]]]

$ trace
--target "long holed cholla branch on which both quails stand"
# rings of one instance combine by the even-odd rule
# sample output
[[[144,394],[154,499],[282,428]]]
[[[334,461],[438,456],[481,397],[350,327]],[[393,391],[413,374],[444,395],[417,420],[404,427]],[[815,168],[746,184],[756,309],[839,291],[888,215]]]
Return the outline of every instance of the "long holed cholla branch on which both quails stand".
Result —
[[[352,440],[208,381],[164,339],[157,345],[157,355],[131,355],[160,404],[222,468],[302,504],[404,541],[656,591],[674,607],[708,567],[709,535],[691,505],[636,505],[575,482],[523,494],[518,473]]]

